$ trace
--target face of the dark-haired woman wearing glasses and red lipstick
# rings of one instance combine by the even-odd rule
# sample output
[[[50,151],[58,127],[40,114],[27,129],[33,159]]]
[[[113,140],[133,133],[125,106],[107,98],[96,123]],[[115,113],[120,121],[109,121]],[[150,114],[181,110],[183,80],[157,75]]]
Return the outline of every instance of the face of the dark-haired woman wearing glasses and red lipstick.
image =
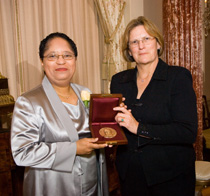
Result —
[[[49,55],[58,55],[58,59],[50,60],[47,58]],[[72,59],[64,59],[62,55],[73,54],[69,43],[63,38],[53,38],[48,41],[47,49],[44,52],[44,58],[42,61],[42,66],[44,68],[45,74],[48,77],[52,85],[65,86],[69,85],[75,69],[76,69],[76,57]]]

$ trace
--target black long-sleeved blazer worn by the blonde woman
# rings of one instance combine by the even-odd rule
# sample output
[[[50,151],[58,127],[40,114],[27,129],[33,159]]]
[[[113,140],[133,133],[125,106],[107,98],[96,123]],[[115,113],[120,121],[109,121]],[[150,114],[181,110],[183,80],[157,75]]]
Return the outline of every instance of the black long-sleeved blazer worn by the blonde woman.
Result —
[[[169,66],[159,59],[140,99],[136,99],[137,68],[115,74],[111,93],[122,93],[125,104],[139,122],[138,135],[124,128],[128,145],[118,146],[116,165],[126,177],[132,153],[140,156],[147,183],[161,183],[194,164],[197,136],[196,95],[189,70]]]

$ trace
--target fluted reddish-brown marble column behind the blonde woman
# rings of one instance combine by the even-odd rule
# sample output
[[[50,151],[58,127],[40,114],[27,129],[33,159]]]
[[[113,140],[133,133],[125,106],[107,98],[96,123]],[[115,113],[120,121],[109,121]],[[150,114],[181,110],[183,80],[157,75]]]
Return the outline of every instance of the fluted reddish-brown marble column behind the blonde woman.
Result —
[[[202,145],[202,10],[200,0],[163,0],[165,60],[186,67],[192,73],[197,96],[197,160],[203,159]]]

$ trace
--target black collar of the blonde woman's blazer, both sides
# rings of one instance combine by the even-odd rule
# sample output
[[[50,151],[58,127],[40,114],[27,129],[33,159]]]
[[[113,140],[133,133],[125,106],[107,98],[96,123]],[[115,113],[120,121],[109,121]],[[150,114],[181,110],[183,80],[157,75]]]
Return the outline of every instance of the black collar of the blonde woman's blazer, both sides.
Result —
[[[167,75],[168,75],[168,64],[166,64],[162,59],[159,58],[157,67],[155,69],[155,72],[152,76],[152,79],[155,80],[166,80]],[[137,75],[137,67],[134,69],[127,70],[129,71],[129,74],[124,74],[122,78],[122,83],[127,83],[127,82],[136,82],[136,75]]]

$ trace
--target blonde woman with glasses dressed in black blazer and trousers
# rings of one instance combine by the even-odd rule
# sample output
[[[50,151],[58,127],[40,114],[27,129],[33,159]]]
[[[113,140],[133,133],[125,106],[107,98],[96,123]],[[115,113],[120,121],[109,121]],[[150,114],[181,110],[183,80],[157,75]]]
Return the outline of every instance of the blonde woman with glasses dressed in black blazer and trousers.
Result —
[[[192,76],[162,61],[163,49],[151,21],[141,16],[127,25],[123,55],[136,67],[111,81],[111,93],[122,93],[127,106],[114,108],[128,139],[116,156],[122,195],[194,195],[197,110]]]

